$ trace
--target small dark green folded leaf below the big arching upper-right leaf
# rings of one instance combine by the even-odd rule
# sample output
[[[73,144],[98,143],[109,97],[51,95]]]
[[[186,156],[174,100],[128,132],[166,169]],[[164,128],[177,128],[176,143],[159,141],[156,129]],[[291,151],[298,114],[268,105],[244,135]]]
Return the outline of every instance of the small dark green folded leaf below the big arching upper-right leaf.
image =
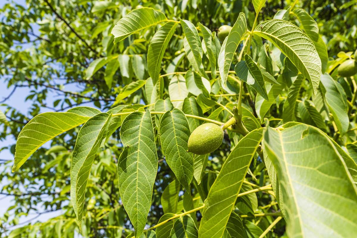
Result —
[[[268,94],[265,89],[260,67],[254,63],[249,55],[245,55],[244,59],[245,61],[239,61],[234,68],[237,76],[248,85],[252,86],[252,88],[254,88],[254,90],[257,91],[264,99],[268,100]]]

